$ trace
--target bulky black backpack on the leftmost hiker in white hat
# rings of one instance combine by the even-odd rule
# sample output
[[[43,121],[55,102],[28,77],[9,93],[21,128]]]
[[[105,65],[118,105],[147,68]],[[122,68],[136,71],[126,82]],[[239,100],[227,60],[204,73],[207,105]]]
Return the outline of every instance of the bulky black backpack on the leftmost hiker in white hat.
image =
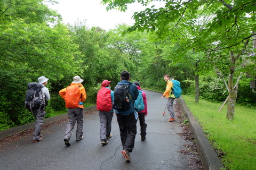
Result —
[[[36,82],[28,83],[28,90],[25,97],[25,107],[30,111],[34,109],[43,109],[45,100],[42,94],[43,85]]]

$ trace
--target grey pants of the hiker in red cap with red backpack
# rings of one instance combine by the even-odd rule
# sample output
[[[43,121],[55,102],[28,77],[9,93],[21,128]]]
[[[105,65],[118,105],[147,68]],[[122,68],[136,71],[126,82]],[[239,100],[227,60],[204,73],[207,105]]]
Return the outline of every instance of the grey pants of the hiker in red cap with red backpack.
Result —
[[[106,137],[108,137],[110,135],[113,115],[114,115],[114,112],[101,112],[101,111],[99,111],[99,116],[100,116],[100,140],[106,140]]]

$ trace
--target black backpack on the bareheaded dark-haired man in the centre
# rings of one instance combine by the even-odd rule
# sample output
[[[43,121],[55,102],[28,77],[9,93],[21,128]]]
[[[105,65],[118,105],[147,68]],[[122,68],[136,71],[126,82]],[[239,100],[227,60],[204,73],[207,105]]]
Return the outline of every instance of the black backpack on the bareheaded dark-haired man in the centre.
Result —
[[[130,108],[130,100],[132,100],[129,94],[130,84],[117,84],[114,90],[114,104],[113,108],[118,111],[126,111]],[[130,99],[129,99],[130,97]]]

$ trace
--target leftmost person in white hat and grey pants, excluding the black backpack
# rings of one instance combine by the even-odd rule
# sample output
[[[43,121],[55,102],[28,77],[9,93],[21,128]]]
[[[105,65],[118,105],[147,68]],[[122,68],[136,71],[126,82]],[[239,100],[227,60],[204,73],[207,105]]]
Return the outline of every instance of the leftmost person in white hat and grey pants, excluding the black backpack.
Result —
[[[43,86],[42,100],[43,99],[50,100],[49,89],[45,87],[49,79],[45,78],[44,76],[41,76],[37,80],[39,84],[42,84]],[[36,143],[43,139],[41,135],[41,130],[43,125],[44,115],[46,114],[45,107],[40,107],[38,109],[32,110],[32,113],[36,116],[36,125],[35,125],[34,134],[33,134],[33,143]]]

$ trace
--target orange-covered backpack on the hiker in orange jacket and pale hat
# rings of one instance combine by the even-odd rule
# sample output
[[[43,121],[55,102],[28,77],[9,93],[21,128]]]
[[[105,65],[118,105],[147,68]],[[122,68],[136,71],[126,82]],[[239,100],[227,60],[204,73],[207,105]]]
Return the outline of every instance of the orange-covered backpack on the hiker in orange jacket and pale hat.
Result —
[[[79,86],[70,85],[66,88],[66,107],[67,108],[77,108],[79,106]]]

